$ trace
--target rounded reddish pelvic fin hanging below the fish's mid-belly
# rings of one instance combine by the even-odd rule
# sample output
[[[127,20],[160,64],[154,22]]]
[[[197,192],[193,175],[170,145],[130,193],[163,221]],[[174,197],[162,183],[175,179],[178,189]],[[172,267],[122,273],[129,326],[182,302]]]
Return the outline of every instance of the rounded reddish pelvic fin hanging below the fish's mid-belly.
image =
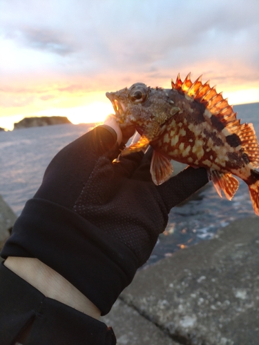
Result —
[[[150,167],[151,176],[157,186],[170,179],[173,174],[171,161],[160,152],[153,151]]]

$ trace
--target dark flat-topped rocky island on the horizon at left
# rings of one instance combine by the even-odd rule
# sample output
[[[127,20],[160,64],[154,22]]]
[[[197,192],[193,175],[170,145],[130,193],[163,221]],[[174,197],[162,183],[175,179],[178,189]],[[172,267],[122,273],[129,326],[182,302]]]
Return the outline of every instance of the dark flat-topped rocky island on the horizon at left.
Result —
[[[14,129],[61,124],[71,124],[71,122],[68,120],[67,117],[63,116],[24,117],[24,119],[15,124]]]

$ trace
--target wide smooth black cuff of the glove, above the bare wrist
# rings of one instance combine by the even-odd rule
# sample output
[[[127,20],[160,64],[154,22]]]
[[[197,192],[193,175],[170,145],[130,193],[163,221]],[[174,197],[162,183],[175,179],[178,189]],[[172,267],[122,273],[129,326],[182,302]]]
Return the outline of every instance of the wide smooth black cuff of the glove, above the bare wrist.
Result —
[[[73,284],[106,315],[131,284],[137,257],[117,239],[72,210],[30,199],[1,257],[36,257]]]

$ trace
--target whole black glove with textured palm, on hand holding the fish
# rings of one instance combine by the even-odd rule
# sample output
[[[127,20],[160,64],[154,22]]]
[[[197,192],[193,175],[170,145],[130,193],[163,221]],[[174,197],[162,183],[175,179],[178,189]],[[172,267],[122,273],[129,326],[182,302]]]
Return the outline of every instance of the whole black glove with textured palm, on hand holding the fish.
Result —
[[[151,255],[171,208],[208,181],[205,169],[189,167],[155,186],[149,172],[152,152],[113,164],[118,154],[115,132],[106,126],[61,150],[1,253],[37,257],[102,315]]]

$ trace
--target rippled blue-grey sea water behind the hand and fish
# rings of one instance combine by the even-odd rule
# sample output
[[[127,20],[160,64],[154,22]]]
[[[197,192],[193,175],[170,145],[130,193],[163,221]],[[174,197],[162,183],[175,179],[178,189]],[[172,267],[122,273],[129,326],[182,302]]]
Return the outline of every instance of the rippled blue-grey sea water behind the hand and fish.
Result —
[[[251,122],[259,138],[259,103],[234,106],[241,123]],[[17,215],[39,188],[44,171],[54,155],[93,128],[93,124],[63,124],[0,132],[0,195]],[[215,236],[222,228],[254,215],[247,185],[231,201],[220,198],[210,182],[189,200],[171,210],[169,223],[160,235],[148,265]],[[245,230],[245,229],[244,229]]]

